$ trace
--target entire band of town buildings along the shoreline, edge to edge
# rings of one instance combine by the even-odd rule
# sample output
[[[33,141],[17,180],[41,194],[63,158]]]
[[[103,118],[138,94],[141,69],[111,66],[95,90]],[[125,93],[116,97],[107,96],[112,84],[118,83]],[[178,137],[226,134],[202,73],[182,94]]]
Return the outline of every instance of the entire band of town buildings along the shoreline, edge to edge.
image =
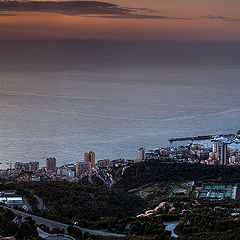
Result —
[[[240,139],[240,131],[235,134],[235,141]],[[50,157],[46,159],[46,165],[40,167],[39,162],[16,162],[14,167],[10,165],[8,169],[0,170],[0,178],[3,182],[28,182],[28,181],[71,181],[77,182],[79,179],[88,176],[96,176],[104,181],[108,186],[114,184],[109,169],[116,166],[129,166],[141,161],[155,159],[165,162],[177,163],[201,163],[208,165],[240,165],[240,150],[229,147],[229,139],[214,137],[211,143],[200,144],[191,142],[187,145],[176,147],[169,146],[146,151],[144,147],[137,150],[135,159],[103,159],[97,160],[95,152],[84,153],[83,161],[66,164],[57,167],[57,159]],[[124,169],[124,168],[123,168]]]

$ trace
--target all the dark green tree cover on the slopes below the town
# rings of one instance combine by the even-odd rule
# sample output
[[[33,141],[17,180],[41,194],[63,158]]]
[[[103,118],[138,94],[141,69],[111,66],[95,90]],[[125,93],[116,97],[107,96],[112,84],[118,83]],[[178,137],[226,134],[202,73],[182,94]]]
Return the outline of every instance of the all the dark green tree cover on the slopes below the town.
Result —
[[[97,184],[97,181],[94,181],[95,184],[89,184],[85,179],[80,183],[12,183],[2,185],[0,189],[18,190],[21,195],[27,197],[35,214],[68,223],[78,221],[81,227],[106,229],[129,235],[123,239],[172,239],[170,232],[165,231],[163,225],[163,220],[171,219],[181,219],[175,229],[180,240],[240,239],[240,218],[231,215],[240,213],[240,200],[195,200],[194,195],[169,197],[160,191],[165,189],[162,187],[164,184],[169,188],[176,183],[187,181],[240,183],[238,166],[177,164],[150,160],[128,166],[124,174],[119,168],[115,178],[118,181],[112,188],[103,186],[102,182]],[[154,189],[161,188],[156,193],[159,195],[158,202],[151,203],[152,208],[155,208],[159,201],[166,202],[166,206],[160,208],[156,216],[135,217],[144,210],[152,209],[145,209],[147,205],[150,206],[149,199],[146,199],[146,202],[134,194],[140,187],[144,190],[149,188],[153,192]],[[35,196],[43,200],[46,207],[44,210],[38,209],[39,202]],[[15,229],[15,226],[12,224],[9,229]],[[71,227],[69,231],[77,240],[108,239],[81,235]]]

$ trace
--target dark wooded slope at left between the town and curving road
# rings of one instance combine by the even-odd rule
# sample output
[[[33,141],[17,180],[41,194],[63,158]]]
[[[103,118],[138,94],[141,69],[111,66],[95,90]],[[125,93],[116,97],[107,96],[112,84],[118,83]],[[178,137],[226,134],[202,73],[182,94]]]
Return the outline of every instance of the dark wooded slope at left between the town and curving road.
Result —
[[[94,184],[70,182],[13,183],[0,188],[17,189],[34,203],[33,211],[54,218],[98,220],[106,217],[126,217],[136,214],[144,206],[137,196],[118,189]],[[34,195],[43,200],[45,211],[37,210]],[[49,215],[49,217],[50,217]]]

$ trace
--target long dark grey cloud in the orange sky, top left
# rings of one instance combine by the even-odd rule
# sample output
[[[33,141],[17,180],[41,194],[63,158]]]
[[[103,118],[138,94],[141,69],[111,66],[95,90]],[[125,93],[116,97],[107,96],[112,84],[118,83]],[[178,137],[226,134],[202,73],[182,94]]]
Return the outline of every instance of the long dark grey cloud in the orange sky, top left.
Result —
[[[190,19],[161,16],[157,14],[158,11],[147,8],[127,8],[99,1],[0,1],[0,11],[49,12],[122,19]]]

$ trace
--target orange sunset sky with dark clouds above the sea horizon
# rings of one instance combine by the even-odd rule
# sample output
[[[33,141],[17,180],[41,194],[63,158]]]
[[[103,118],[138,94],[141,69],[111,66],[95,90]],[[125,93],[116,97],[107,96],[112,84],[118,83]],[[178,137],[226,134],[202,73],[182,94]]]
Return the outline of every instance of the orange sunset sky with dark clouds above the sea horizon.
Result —
[[[240,40],[239,0],[0,1],[0,39]]]

